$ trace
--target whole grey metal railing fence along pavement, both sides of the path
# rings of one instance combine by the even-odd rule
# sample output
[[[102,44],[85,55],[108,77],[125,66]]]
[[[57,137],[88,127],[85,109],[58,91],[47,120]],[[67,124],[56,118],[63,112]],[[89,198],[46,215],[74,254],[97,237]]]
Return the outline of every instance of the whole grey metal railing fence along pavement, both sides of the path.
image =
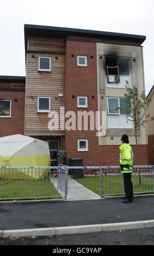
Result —
[[[68,169],[91,169],[100,176],[100,198],[125,194],[119,166],[0,167],[0,200],[65,198]],[[134,166],[133,194],[154,193],[154,166]],[[89,188],[91,189],[91,188]]]

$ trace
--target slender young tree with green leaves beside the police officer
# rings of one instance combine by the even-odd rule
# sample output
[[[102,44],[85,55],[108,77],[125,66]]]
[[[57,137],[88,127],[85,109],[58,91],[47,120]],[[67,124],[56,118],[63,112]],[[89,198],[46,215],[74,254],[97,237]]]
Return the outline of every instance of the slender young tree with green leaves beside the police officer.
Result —
[[[145,91],[139,95],[138,88],[136,86],[130,87],[128,81],[126,81],[126,93],[125,103],[129,106],[130,109],[125,111],[125,116],[128,121],[132,121],[134,124],[134,132],[136,139],[136,155],[137,155],[137,165],[139,166],[139,158],[138,158],[138,141],[137,141],[137,129],[140,126],[144,126],[148,121],[153,121],[154,117],[150,118],[149,114],[146,114],[146,105],[149,105],[151,99],[146,100]],[[123,111],[123,108],[120,108]],[[139,177],[140,178],[140,177]],[[139,179],[140,182],[140,179]]]

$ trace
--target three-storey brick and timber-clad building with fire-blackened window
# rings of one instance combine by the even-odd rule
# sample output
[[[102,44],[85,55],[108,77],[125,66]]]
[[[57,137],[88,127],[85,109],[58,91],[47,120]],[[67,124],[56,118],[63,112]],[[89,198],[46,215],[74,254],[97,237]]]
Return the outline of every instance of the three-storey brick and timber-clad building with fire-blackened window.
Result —
[[[56,150],[66,148],[67,163],[82,157],[84,166],[117,166],[125,132],[136,164],[133,124],[116,107],[128,109],[125,80],[144,89],[145,36],[36,25],[25,25],[24,35],[24,134],[48,141],[55,164]],[[138,144],[139,164],[147,164],[146,127]]]

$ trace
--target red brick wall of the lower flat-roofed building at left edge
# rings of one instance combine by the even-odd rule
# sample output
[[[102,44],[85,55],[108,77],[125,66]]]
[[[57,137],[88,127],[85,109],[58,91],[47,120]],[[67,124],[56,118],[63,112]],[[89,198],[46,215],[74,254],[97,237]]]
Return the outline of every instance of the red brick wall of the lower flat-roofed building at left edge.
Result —
[[[0,137],[14,134],[24,135],[25,93],[1,91],[0,100],[11,100],[11,117],[0,117]],[[17,100],[17,101],[15,101]]]

